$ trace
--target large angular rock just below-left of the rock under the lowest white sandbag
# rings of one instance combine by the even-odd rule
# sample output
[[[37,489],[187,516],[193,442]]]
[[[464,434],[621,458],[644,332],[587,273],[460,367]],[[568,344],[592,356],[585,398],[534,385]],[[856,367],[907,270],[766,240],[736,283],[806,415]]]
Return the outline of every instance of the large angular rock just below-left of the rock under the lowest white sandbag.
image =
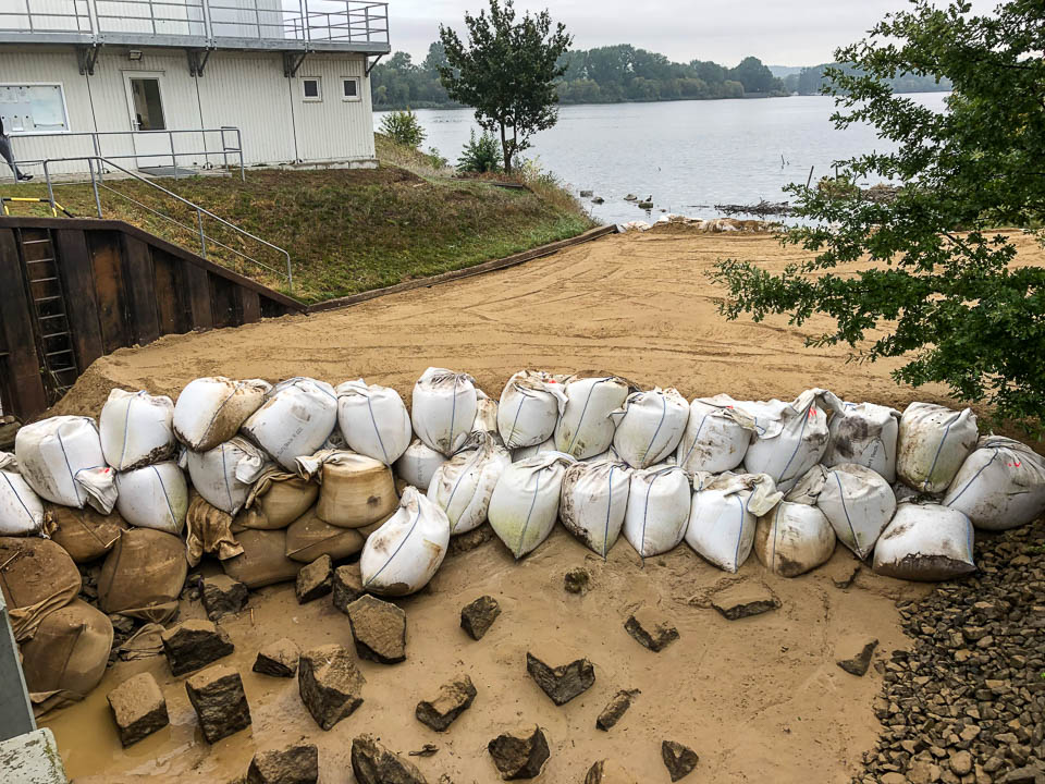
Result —
[[[330,730],[362,705],[366,682],[344,646],[320,646],[302,654],[298,691],[308,712],[323,730]]]

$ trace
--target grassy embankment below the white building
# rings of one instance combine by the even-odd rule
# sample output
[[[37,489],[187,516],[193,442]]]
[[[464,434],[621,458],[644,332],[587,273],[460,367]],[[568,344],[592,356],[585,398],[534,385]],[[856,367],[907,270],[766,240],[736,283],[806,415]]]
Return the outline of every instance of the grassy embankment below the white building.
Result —
[[[293,296],[308,303],[471,267],[576,236],[593,223],[564,191],[538,181],[530,189],[452,180],[414,150],[378,139],[376,170],[248,170],[238,177],[163,179],[159,184],[273,245],[286,248]],[[109,180],[109,187],[195,228],[196,213],[148,185]],[[0,195],[46,196],[42,184],[0,186]],[[56,185],[56,200],[75,216],[96,215],[90,185]],[[106,218],[125,220],[194,252],[199,237],[147,209],[101,192]],[[16,206],[15,215],[29,208]],[[33,210],[35,215],[46,211]],[[282,257],[205,218],[208,236],[282,271]],[[211,245],[208,258],[286,291],[285,278]]]

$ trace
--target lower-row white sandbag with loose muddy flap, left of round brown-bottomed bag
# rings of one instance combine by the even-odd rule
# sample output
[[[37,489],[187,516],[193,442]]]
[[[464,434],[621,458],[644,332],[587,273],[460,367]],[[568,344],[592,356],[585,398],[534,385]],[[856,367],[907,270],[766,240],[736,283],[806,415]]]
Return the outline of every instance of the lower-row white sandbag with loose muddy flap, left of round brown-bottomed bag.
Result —
[[[783,497],[767,474],[725,475],[693,493],[686,543],[726,572],[751,554],[758,518]]]

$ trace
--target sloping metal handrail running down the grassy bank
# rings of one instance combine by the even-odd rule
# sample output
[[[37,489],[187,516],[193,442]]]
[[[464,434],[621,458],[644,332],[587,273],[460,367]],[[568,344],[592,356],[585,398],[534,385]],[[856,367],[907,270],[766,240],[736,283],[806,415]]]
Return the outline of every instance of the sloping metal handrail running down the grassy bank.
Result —
[[[148,211],[148,212],[151,212],[152,215],[155,215],[155,216],[157,216],[157,217],[159,217],[159,218],[162,218],[163,220],[170,221],[171,223],[173,223],[173,224],[175,224],[175,225],[177,225],[177,226],[181,226],[182,229],[185,229],[185,230],[192,232],[193,234],[195,234],[196,236],[198,236],[198,237],[199,237],[199,255],[202,256],[204,258],[207,258],[207,249],[208,249],[208,247],[210,247],[210,246],[221,247],[221,248],[224,248],[225,250],[229,250],[230,253],[234,254],[235,256],[242,258],[242,259],[245,260],[245,261],[249,261],[250,264],[254,264],[254,265],[256,265],[256,266],[258,266],[258,267],[260,267],[260,268],[262,268],[262,269],[266,269],[266,270],[268,270],[269,272],[272,272],[273,274],[275,274],[275,275],[278,275],[278,277],[283,277],[283,272],[281,272],[280,270],[275,269],[274,267],[271,267],[270,265],[267,265],[267,264],[265,264],[263,261],[260,261],[260,260],[254,258],[253,256],[248,256],[248,255],[246,255],[245,253],[242,253],[242,252],[237,250],[236,248],[232,247],[231,245],[228,245],[226,243],[220,242],[220,241],[218,241],[217,238],[214,238],[213,236],[208,235],[208,234],[207,234],[207,231],[206,231],[206,228],[205,228],[205,225],[204,225],[204,218],[205,218],[205,217],[206,217],[206,218],[209,218],[209,219],[211,219],[211,220],[213,220],[213,221],[217,221],[218,223],[220,223],[221,225],[225,226],[226,229],[231,229],[231,230],[232,230],[233,232],[235,232],[236,234],[242,235],[242,236],[244,236],[244,237],[247,237],[248,240],[253,240],[254,242],[256,242],[256,243],[258,243],[258,244],[260,244],[260,245],[269,248],[270,250],[275,252],[275,254],[282,256],[283,259],[284,259],[285,262],[286,262],[286,285],[287,285],[287,290],[288,290],[288,291],[293,291],[293,289],[294,289],[294,273],[293,273],[293,271],[292,271],[292,269],[291,269],[291,255],[290,255],[286,250],[284,250],[283,248],[279,247],[278,245],[273,245],[273,244],[270,243],[270,242],[266,242],[266,241],[262,240],[261,237],[256,236],[256,235],[251,234],[250,232],[245,231],[245,230],[241,229],[239,226],[237,226],[237,225],[235,225],[235,224],[233,224],[233,223],[230,223],[230,222],[226,221],[224,218],[220,218],[220,217],[216,216],[213,212],[211,212],[210,210],[205,209],[205,208],[200,207],[199,205],[194,204],[193,201],[189,201],[188,199],[179,196],[179,195],[177,195],[176,193],[174,193],[173,191],[168,191],[168,189],[167,189],[165,187],[163,187],[162,185],[158,185],[157,183],[152,182],[151,180],[148,180],[148,179],[146,179],[146,177],[144,177],[144,176],[140,176],[140,175],[136,174],[135,172],[130,171],[128,169],[124,169],[122,166],[120,166],[119,163],[113,162],[112,160],[110,160],[110,159],[108,159],[108,158],[102,158],[102,157],[100,157],[100,156],[78,156],[78,157],[74,157],[74,158],[49,158],[49,159],[45,160],[45,161],[44,161],[44,177],[45,177],[45,180],[46,180],[46,182],[47,182],[47,198],[48,198],[48,201],[49,201],[50,205],[51,205],[51,209],[52,209],[52,210],[58,208],[58,203],[54,200],[54,181],[53,181],[53,179],[51,177],[50,166],[53,164],[53,163],[67,163],[67,162],[71,162],[71,161],[86,161],[86,162],[87,162],[87,168],[88,168],[88,171],[89,171],[89,174],[90,174],[90,187],[91,187],[91,192],[93,192],[94,197],[95,197],[95,207],[96,207],[96,209],[97,209],[97,211],[98,211],[98,217],[99,217],[99,218],[103,218],[103,217],[104,217],[103,213],[102,213],[102,209],[101,209],[101,191],[108,191],[109,193],[115,194],[115,195],[119,196],[120,198],[126,199],[127,201],[131,201],[132,204],[140,207],[142,209],[144,209],[144,210],[146,210],[146,211]],[[97,171],[96,171],[96,167],[97,167]],[[106,182],[104,182],[104,180],[103,180],[103,176],[102,176],[102,172],[103,172],[104,168],[107,168],[107,167],[112,168],[112,169],[115,169],[115,170],[119,171],[119,172],[122,172],[122,173],[125,174],[127,177],[131,177],[131,179],[133,179],[133,180],[137,180],[138,182],[142,182],[142,183],[145,183],[145,184],[148,185],[149,187],[151,187],[151,188],[153,188],[153,189],[156,189],[156,191],[160,191],[161,193],[163,193],[163,194],[165,194],[167,196],[171,197],[171,198],[174,199],[175,201],[179,201],[180,204],[185,205],[185,206],[188,207],[190,210],[195,211],[195,213],[196,213],[196,225],[195,225],[195,226],[190,226],[190,225],[188,225],[187,223],[183,223],[183,222],[176,220],[175,218],[171,218],[170,216],[164,215],[163,212],[160,212],[160,211],[158,211],[158,210],[149,207],[149,206],[146,205],[146,204],[143,204],[142,201],[139,201],[139,200],[137,200],[137,199],[128,196],[128,195],[125,194],[125,193],[121,193],[120,191],[116,191],[115,188],[110,187],[109,185],[106,184]]]

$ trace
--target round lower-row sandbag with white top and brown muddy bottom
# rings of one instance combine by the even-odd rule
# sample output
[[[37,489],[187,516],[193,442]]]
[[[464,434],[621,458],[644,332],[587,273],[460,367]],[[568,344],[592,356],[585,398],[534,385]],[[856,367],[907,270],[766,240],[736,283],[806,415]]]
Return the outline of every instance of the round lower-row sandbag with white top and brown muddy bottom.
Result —
[[[774,574],[798,577],[827,563],[835,542],[835,530],[820,509],[782,501],[759,518],[754,554]]]

